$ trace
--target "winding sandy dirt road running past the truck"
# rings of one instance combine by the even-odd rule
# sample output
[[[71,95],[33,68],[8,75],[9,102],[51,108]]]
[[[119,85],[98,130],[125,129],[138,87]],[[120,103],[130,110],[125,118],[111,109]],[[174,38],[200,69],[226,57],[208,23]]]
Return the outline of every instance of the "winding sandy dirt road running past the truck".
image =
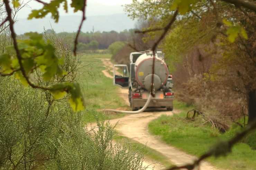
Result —
[[[110,70],[113,69],[113,64],[109,59],[102,59],[103,64],[108,68],[106,70],[103,70],[105,76],[109,78],[113,78],[111,75],[112,72]],[[120,96],[124,98],[124,100],[129,104],[128,101],[128,90],[127,89],[120,89],[119,90]],[[150,111],[147,110],[146,112],[139,113],[139,114],[129,114],[123,118],[119,119],[113,119],[110,120],[111,124],[115,124],[118,122],[118,125],[116,127],[116,130],[125,137],[128,137],[132,140],[135,140],[139,143],[146,144],[147,147],[150,147],[158,152],[161,152],[164,154],[169,160],[176,164],[176,165],[182,165],[185,163],[192,162],[196,159],[196,157],[191,156],[179,149],[176,149],[172,146],[169,146],[159,139],[157,137],[152,136],[148,132],[147,125],[150,121],[158,118],[162,114],[166,115],[173,115],[175,113],[175,110],[173,112],[171,111]],[[151,161],[149,161],[151,162]],[[163,169],[163,166],[155,166],[155,169]],[[217,170],[217,168],[211,166],[207,162],[203,162],[200,166],[200,169],[202,170]]]

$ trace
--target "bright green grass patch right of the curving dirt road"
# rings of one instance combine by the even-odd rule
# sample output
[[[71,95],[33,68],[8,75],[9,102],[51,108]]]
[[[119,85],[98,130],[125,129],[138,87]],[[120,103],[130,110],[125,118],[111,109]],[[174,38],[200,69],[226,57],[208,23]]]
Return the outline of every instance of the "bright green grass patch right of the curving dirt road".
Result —
[[[178,102],[177,102],[178,103]],[[181,108],[185,108],[179,103]],[[186,111],[190,108],[185,109]],[[163,115],[149,123],[150,133],[158,135],[164,142],[175,146],[189,154],[201,156],[205,151],[211,149],[220,140],[228,140],[240,130],[233,126],[224,134],[211,128],[209,124],[203,124],[202,119],[189,121],[184,119],[186,111],[179,115]],[[254,133],[255,135],[256,133]],[[208,159],[210,163],[221,169],[230,170],[254,170],[256,169],[256,150],[246,143],[238,143],[232,148],[227,157]]]

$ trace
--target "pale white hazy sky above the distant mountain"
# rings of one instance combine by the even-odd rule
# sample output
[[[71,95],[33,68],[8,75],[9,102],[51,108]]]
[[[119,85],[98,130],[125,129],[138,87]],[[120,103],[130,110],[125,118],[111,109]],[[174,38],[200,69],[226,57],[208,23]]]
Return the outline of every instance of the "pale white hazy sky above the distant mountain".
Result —
[[[24,0],[27,2],[28,0]],[[49,2],[50,0],[43,0],[44,2]],[[71,0],[68,0],[70,2]],[[115,13],[124,13],[124,7],[122,5],[131,3],[132,0],[87,0],[88,6],[86,9],[87,16],[96,15],[110,15]],[[19,14],[18,18],[27,18],[31,9],[39,9],[42,4],[32,0],[28,3],[29,7],[23,8]],[[60,9],[60,15],[80,15],[81,13],[73,13],[72,8],[69,8],[68,13],[65,13],[63,8]]]

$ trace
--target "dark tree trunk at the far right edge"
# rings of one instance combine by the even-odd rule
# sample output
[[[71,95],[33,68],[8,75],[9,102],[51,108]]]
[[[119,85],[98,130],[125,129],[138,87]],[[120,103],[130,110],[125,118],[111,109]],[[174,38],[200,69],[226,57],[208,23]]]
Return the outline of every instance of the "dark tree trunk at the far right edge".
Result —
[[[250,90],[248,94],[248,123],[256,119],[256,89]]]

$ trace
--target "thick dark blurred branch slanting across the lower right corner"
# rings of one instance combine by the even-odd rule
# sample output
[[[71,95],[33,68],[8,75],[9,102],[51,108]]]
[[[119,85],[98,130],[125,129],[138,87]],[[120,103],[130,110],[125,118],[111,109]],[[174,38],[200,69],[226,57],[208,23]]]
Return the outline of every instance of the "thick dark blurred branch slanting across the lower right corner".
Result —
[[[252,132],[256,129],[256,119],[247,126],[245,130],[236,134],[235,137],[231,138],[226,142],[221,142],[217,144],[216,147],[204,153],[199,159],[195,160],[193,163],[186,164],[184,166],[173,166],[168,168],[167,170],[175,170],[175,169],[187,169],[192,170],[195,167],[199,166],[201,161],[211,156],[219,157],[222,155],[226,155],[228,152],[231,152],[231,148],[238,143],[241,139],[243,139],[248,133]]]

